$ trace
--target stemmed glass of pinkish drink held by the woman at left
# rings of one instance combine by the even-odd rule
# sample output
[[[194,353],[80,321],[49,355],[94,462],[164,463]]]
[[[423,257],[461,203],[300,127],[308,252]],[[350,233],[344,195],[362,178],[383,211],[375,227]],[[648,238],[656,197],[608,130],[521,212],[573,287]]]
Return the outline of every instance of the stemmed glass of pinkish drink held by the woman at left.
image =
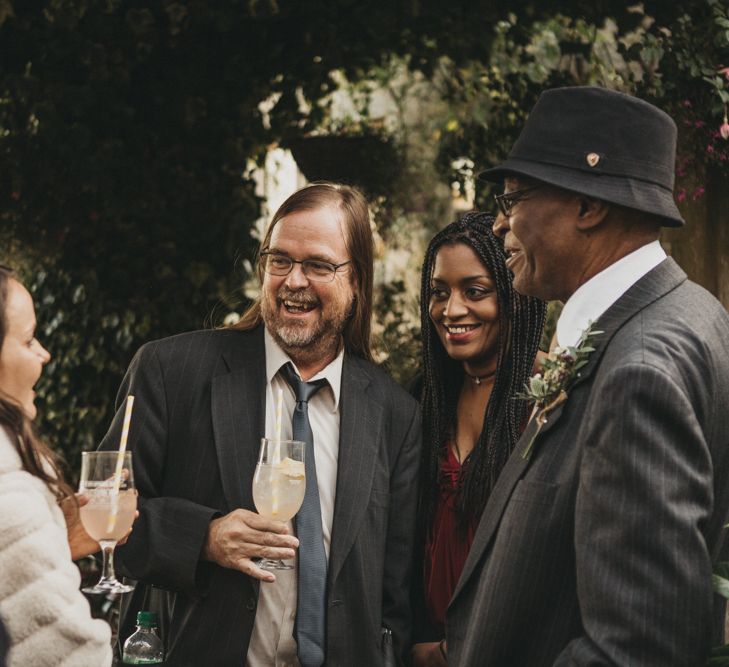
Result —
[[[101,579],[84,593],[128,593],[134,590],[114,574],[114,547],[134,522],[137,491],[134,488],[131,452],[82,452],[79,492],[89,498],[80,510],[86,532],[104,555]]]

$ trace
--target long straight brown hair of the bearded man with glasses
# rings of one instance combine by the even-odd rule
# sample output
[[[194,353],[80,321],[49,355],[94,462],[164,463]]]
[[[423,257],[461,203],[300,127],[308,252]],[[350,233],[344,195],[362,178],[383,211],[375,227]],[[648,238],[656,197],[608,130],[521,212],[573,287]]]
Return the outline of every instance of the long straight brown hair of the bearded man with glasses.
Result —
[[[258,249],[258,279],[263,284],[261,252],[268,248],[276,224],[298,211],[313,211],[329,206],[338,211],[344,227],[344,242],[352,261],[355,299],[352,315],[342,332],[344,349],[357,357],[372,361],[372,282],[374,241],[367,201],[356,188],[338,183],[318,182],[292,194],[276,211]],[[233,329],[248,331],[262,322],[260,297],[243,313]]]

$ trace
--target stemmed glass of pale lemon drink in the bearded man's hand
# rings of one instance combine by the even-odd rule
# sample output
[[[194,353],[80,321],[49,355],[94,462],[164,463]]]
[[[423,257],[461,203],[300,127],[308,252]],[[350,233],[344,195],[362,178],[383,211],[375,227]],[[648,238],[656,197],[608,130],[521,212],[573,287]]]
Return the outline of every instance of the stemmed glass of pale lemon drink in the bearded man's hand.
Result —
[[[300,440],[261,438],[256,473],[253,476],[253,502],[266,519],[289,521],[299,511],[306,490],[304,450]],[[264,570],[291,570],[282,560],[264,558],[258,563]]]

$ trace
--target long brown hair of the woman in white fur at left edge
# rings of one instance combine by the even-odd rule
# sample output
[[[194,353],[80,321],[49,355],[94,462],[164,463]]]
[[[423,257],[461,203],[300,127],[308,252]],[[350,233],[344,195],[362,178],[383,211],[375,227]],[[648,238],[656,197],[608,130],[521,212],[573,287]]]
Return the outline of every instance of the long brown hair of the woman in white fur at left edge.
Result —
[[[7,309],[11,280],[16,280],[12,270],[0,267],[0,350],[8,331]],[[0,425],[8,430],[24,470],[42,479],[59,502],[65,498],[74,498],[73,490],[63,479],[56,457],[35,436],[30,419],[20,404],[1,390]]]

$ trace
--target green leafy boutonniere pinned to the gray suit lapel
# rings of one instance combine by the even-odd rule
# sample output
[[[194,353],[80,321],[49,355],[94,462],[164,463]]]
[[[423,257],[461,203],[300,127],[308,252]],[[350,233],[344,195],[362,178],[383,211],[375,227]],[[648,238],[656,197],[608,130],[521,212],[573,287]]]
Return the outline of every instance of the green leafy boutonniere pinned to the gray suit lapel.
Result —
[[[539,435],[539,431],[542,430],[542,426],[547,423],[547,416],[567,400],[567,391],[580,377],[578,371],[587,363],[590,354],[595,351],[590,339],[601,333],[602,331],[593,331],[592,322],[589,322],[587,328],[582,332],[580,340],[577,341],[577,345],[556,347],[542,361],[541,372],[529,378],[526,392],[517,395],[517,398],[534,403],[532,418],[537,422],[537,430],[534,431],[534,435],[522,454],[525,459],[531,456],[532,445]]]

